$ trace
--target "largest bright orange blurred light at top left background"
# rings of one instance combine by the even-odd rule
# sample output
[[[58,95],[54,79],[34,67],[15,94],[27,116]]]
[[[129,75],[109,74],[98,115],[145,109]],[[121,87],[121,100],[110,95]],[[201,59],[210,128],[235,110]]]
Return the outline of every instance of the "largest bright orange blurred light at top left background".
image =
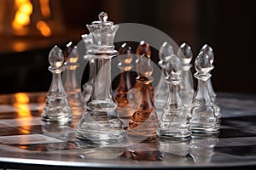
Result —
[[[15,0],[15,9],[15,19],[12,22],[12,27],[15,30],[20,30],[30,24],[32,3],[30,0]]]

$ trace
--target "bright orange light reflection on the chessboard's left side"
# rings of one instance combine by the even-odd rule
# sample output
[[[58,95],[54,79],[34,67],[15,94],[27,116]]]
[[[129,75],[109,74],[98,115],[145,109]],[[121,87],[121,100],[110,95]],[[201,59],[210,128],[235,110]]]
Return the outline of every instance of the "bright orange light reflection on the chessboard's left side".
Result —
[[[18,93],[15,94],[15,109],[18,112],[18,115],[20,117],[26,117],[31,116],[31,111],[29,109],[29,106],[27,105],[29,103],[29,97],[25,93]]]

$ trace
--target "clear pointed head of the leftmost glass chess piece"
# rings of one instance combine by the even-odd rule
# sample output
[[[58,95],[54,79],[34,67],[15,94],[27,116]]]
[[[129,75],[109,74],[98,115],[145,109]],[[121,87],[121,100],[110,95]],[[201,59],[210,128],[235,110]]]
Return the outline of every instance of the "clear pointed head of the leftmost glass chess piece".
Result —
[[[49,64],[52,68],[61,68],[64,62],[64,56],[62,54],[61,48],[55,45],[49,52]]]

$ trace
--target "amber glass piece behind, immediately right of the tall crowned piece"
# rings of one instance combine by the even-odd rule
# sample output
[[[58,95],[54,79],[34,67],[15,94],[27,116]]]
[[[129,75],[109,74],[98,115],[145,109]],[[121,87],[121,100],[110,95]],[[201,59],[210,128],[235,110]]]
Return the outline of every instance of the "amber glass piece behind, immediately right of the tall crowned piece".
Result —
[[[120,76],[119,86],[116,89],[115,101],[118,104],[117,111],[119,117],[130,117],[136,109],[135,96],[128,93],[132,88],[130,71],[132,65],[132,50],[131,47],[124,43],[119,48],[119,69],[122,71]]]

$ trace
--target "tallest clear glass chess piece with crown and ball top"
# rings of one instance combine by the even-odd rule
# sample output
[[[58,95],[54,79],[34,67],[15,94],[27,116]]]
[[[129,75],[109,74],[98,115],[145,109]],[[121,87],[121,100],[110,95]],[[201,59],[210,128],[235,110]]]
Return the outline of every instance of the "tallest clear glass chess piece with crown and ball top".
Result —
[[[87,25],[93,44],[87,54],[95,61],[95,74],[90,99],[84,106],[76,137],[84,142],[101,145],[123,144],[126,133],[119,120],[111,87],[111,59],[118,55],[113,37],[119,26],[107,20],[108,14],[99,14],[99,20]]]

